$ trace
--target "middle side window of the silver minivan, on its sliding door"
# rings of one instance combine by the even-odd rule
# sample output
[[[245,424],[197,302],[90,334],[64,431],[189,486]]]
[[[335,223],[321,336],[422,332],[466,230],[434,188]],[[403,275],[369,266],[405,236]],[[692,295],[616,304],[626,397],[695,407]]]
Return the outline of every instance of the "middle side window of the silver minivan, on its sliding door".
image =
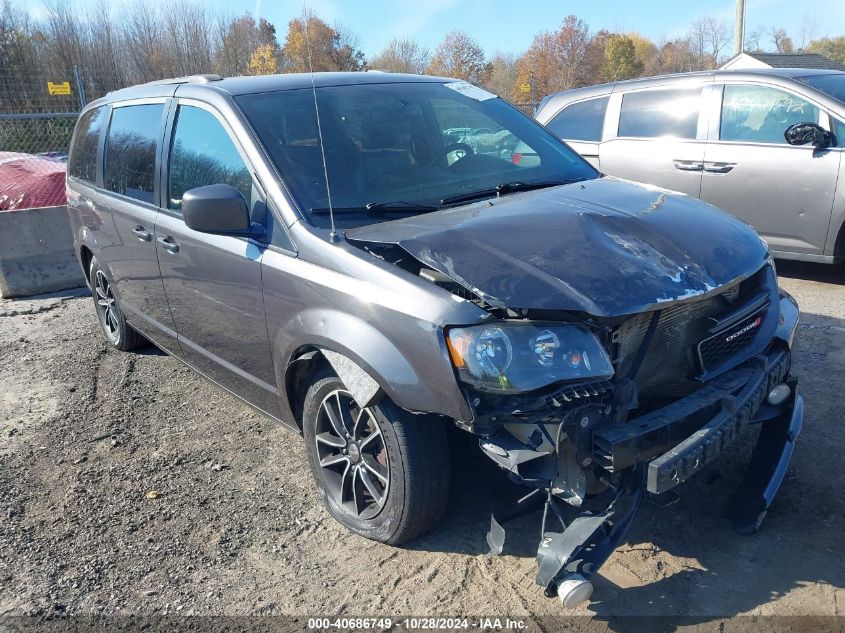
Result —
[[[617,136],[695,138],[701,93],[683,88],[623,95]]]

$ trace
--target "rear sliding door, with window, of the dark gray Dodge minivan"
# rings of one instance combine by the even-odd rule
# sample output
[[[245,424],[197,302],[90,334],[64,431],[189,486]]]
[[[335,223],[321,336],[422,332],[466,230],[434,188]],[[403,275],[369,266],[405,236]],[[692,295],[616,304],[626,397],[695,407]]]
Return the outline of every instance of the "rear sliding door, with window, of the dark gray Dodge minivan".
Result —
[[[165,100],[115,104],[104,143],[103,189],[92,196],[101,217],[97,258],[108,271],[126,319],[168,351],[176,331],[158,268],[153,232]]]

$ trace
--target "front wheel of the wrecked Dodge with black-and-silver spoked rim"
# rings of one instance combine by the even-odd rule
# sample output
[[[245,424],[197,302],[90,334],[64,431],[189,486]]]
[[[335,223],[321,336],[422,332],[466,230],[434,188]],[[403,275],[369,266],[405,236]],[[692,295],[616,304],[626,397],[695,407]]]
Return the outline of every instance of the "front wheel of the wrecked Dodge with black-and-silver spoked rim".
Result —
[[[303,434],[329,513],[353,532],[398,545],[440,520],[449,496],[446,429],[387,398],[362,408],[334,375],[305,396]]]

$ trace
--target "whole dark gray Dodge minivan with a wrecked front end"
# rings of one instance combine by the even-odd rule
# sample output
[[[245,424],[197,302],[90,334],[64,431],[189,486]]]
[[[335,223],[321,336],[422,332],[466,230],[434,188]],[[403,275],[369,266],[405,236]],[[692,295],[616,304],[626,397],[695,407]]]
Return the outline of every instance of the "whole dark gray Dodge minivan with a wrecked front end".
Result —
[[[646,491],[742,426],[761,435],[738,529],[783,479],[798,308],[766,245],[697,200],[600,177],[479,88],[137,86],[86,108],[68,174],[111,344],[149,339],[301,432],[329,513],[367,538],[437,524],[448,425],[531,491],[493,517],[494,553],[510,517],[545,506],[537,582],[566,606]]]

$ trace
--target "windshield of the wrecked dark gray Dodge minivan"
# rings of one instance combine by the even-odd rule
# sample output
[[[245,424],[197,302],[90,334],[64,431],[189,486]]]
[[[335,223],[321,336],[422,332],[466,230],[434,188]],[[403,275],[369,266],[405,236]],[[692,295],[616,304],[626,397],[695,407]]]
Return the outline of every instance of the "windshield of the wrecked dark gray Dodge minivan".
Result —
[[[311,89],[236,100],[306,218],[329,227]],[[340,228],[598,176],[533,119],[462,82],[324,87],[317,102]]]

